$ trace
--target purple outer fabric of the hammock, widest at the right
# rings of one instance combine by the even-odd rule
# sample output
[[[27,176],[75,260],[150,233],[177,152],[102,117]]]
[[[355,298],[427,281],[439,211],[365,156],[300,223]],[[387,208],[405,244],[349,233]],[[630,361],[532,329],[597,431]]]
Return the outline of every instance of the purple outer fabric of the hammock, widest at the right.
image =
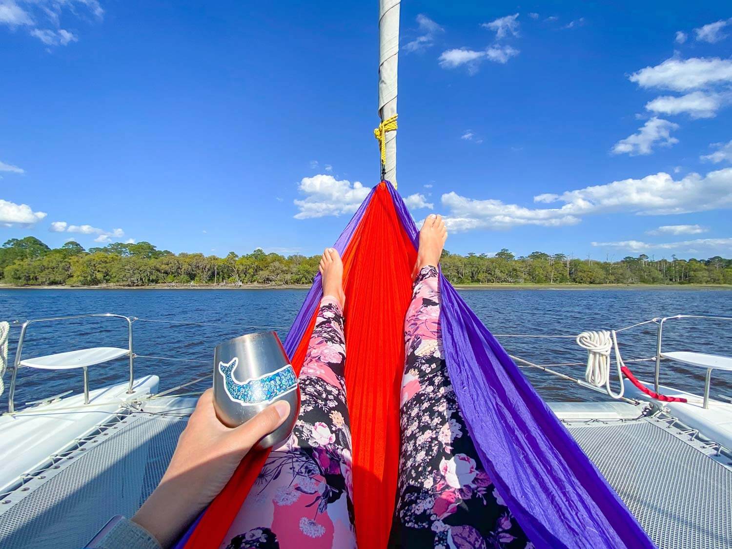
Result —
[[[415,249],[419,232],[389,182]],[[371,193],[340,235],[343,254]],[[501,344],[440,275],[445,362],[483,467],[537,548],[653,548],[655,545]],[[320,275],[285,340],[292,356],[322,294]]]

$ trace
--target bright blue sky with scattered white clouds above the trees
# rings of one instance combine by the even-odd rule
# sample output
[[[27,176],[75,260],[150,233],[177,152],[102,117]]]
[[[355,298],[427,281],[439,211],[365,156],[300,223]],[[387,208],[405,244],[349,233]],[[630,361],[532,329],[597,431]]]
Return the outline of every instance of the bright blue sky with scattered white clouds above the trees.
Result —
[[[377,18],[376,1],[0,0],[0,239],[317,253],[378,182]],[[731,257],[731,18],[404,2],[415,219],[444,214],[458,253]]]

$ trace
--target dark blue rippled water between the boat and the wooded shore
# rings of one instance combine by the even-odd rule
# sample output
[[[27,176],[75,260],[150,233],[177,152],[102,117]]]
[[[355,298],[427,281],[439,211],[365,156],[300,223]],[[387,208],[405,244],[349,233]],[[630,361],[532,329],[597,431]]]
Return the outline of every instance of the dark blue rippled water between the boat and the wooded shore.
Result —
[[[466,290],[470,305],[494,334],[573,335],[586,329],[619,328],[659,315],[698,313],[730,315],[732,291],[673,290]],[[275,326],[285,338],[299,310],[305,290],[1,290],[0,320],[41,318],[81,313],[119,313],[163,321],[196,321],[223,326],[196,326],[137,321],[135,353],[157,358],[135,360],[135,373],[160,376],[161,389],[209,373],[216,343],[255,331],[244,326]],[[74,321],[73,324],[35,324],[29,328],[23,357],[40,356],[88,346],[127,346],[126,322],[119,319]],[[668,326],[668,328],[666,327]],[[671,321],[664,326],[667,351],[705,351],[732,356],[732,322]],[[12,328],[10,354],[20,329]],[[574,340],[499,338],[510,354],[534,363],[578,362],[586,354]],[[655,354],[655,325],[621,332],[625,359]],[[651,363],[629,365],[642,379],[652,378]],[[662,382],[700,393],[703,370],[663,363]],[[120,359],[89,368],[91,387],[126,378],[127,362]],[[575,377],[584,367],[557,367]],[[597,400],[602,395],[581,389],[546,373],[523,371],[547,400]],[[5,382],[9,383],[10,376]],[[51,372],[24,368],[18,375],[16,403],[81,390],[81,371]],[[7,393],[7,390],[6,390]],[[714,373],[712,395],[732,395],[732,373]],[[0,406],[7,400],[3,395]]]

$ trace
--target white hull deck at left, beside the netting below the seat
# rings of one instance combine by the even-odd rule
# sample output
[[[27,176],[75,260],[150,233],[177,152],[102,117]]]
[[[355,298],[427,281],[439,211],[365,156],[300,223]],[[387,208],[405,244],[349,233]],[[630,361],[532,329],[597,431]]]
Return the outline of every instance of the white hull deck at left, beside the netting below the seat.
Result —
[[[34,471],[49,456],[67,447],[75,438],[89,433],[104,423],[122,403],[138,400],[157,392],[160,378],[144,376],[135,380],[133,392],[127,395],[127,382],[94,389],[89,404],[84,395],[74,395],[51,404],[26,408],[17,414],[0,417],[0,492],[12,485],[21,474]]]

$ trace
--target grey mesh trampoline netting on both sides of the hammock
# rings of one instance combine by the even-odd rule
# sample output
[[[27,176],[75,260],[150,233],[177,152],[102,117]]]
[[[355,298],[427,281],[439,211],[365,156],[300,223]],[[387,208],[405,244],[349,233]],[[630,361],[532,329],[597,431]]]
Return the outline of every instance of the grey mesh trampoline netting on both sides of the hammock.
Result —
[[[160,399],[123,412],[61,452],[3,496],[0,546],[77,549],[111,516],[132,515],[163,476],[194,402]],[[636,406],[583,414],[586,406],[553,405],[660,548],[732,547],[727,458],[660,417],[638,417]]]

